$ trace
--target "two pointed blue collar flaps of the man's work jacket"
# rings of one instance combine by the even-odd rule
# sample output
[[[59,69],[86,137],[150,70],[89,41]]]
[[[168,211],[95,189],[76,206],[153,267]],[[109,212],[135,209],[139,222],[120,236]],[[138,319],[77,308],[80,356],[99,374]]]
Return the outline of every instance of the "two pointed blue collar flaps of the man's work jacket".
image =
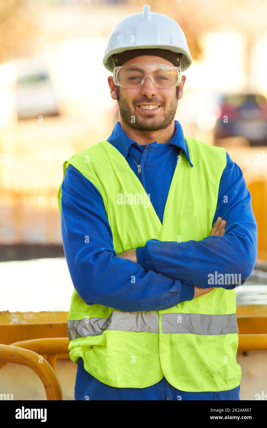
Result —
[[[177,146],[180,149],[183,149],[189,164],[193,166],[189,157],[189,151],[186,144],[186,140],[183,136],[183,129],[180,122],[178,122],[178,120],[174,120],[174,128],[175,128],[174,136],[166,144],[172,144],[173,146]],[[128,135],[125,134],[125,132],[120,126],[120,121],[118,120],[114,125],[111,135],[107,138],[107,141],[111,143],[112,146],[114,146],[124,156],[124,158],[127,157],[130,146],[136,143],[136,141],[131,140],[131,138],[129,138]]]

